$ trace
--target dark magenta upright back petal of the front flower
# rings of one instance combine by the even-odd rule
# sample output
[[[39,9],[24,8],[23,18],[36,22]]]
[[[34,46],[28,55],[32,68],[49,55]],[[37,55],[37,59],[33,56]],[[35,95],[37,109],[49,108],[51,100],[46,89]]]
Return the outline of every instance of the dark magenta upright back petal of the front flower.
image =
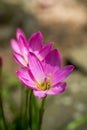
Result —
[[[53,67],[60,68],[62,61],[59,51],[57,49],[50,51],[50,53],[45,58],[45,62]]]

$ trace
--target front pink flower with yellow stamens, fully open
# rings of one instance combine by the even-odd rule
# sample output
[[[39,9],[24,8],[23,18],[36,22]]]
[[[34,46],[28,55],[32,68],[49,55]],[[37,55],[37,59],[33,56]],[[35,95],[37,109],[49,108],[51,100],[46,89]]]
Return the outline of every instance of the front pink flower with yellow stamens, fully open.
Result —
[[[66,88],[64,80],[73,71],[74,66],[61,67],[61,56],[58,50],[49,52],[43,62],[33,53],[29,53],[29,70],[17,71],[17,76],[23,84],[34,90],[34,95],[43,98],[46,95],[62,93]]]

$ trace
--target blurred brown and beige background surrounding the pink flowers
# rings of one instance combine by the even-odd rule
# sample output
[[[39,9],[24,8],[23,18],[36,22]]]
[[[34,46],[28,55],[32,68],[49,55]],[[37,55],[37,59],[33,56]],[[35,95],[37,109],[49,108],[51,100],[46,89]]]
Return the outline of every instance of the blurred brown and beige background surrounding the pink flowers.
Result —
[[[17,28],[21,28],[27,38],[41,31],[44,43],[54,41],[62,53],[63,65],[76,66],[67,79],[67,90],[48,97],[42,130],[58,130],[64,123],[87,115],[87,0],[0,0],[0,55],[8,122],[13,119],[9,107],[18,111],[21,99],[15,74],[18,65],[10,46]],[[87,123],[76,130],[87,130]]]

